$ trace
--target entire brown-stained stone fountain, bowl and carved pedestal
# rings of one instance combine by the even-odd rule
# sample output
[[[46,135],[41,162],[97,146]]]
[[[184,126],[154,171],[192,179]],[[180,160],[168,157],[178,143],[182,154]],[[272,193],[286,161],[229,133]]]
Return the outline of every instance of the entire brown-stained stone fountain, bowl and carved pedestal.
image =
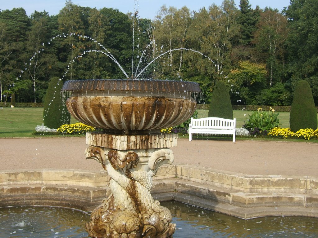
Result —
[[[110,195],[86,223],[91,237],[172,237],[176,225],[170,211],[150,194],[152,177],[172,164],[170,147],[177,134],[160,129],[193,115],[201,92],[193,82],[169,80],[71,80],[69,112],[80,122],[101,128],[87,132],[86,158],[98,161],[110,176]]]

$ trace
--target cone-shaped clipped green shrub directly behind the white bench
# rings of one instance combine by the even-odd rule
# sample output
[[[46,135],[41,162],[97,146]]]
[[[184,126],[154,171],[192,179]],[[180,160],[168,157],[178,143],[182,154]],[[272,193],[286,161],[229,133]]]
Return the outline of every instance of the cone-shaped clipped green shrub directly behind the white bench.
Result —
[[[214,87],[208,116],[233,119],[230,94],[223,81],[218,81]]]

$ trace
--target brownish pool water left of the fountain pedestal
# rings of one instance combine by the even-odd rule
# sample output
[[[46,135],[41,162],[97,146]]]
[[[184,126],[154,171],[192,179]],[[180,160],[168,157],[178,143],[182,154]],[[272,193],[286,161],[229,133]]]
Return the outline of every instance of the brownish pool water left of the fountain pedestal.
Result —
[[[59,207],[0,208],[0,237],[87,237],[90,214]]]

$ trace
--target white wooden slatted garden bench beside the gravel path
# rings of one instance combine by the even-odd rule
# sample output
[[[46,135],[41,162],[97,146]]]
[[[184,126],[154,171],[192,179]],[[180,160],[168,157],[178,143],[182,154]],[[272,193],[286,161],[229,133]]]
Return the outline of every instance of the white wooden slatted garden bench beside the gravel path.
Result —
[[[192,141],[192,134],[230,134],[235,142],[235,118],[224,119],[219,117],[205,117],[193,119],[189,124],[189,141]]]

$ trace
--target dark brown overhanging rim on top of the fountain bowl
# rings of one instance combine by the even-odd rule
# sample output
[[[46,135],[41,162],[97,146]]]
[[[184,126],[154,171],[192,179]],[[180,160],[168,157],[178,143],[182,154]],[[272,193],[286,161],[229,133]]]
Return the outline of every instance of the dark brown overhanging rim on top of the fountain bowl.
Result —
[[[69,80],[62,91],[155,91],[155,92],[201,92],[196,82],[144,79],[79,79]]]

